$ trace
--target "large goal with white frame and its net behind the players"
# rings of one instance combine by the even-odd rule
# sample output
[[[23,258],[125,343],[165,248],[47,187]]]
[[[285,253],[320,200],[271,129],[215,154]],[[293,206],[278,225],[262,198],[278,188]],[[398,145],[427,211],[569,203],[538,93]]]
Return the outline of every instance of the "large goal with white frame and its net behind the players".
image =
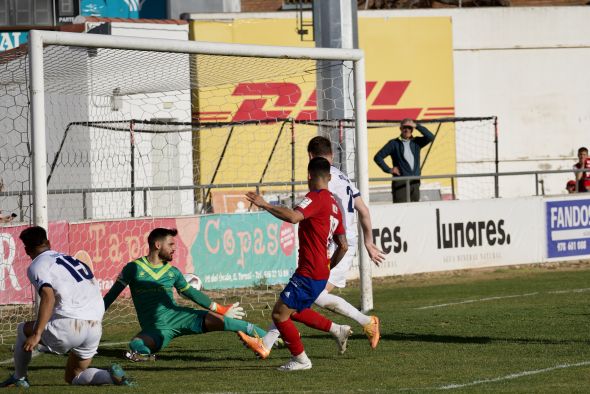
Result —
[[[306,145],[318,134],[342,149],[336,165],[368,192],[367,159],[357,157],[367,151],[360,51],[57,32],[35,32],[30,46],[0,55],[0,209],[18,215],[1,232],[3,341],[34,316],[18,240],[25,226],[47,226],[52,247],[91,266],[103,293],[147,254],[153,228],[178,228],[181,271],[221,302],[267,310],[273,291],[223,289],[285,283],[295,232],[255,212],[244,193],[292,206],[307,191]],[[105,326],[136,324],[128,297]]]

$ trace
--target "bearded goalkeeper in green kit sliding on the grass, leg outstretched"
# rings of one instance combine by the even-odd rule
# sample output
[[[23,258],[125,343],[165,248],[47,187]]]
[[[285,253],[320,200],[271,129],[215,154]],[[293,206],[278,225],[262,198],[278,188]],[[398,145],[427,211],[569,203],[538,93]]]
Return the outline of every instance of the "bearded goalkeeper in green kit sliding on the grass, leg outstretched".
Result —
[[[129,342],[126,357],[131,361],[155,360],[154,353],[183,335],[209,331],[243,331],[251,336],[264,336],[266,331],[241,320],[245,315],[239,303],[219,305],[191,287],[180,270],[171,264],[176,250],[176,229],[156,228],[148,236],[149,254],[125,265],[117,281],[104,296],[105,309],[129,285],[141,331]],[[208,309],[180,306],[172,288],[196,304]]]

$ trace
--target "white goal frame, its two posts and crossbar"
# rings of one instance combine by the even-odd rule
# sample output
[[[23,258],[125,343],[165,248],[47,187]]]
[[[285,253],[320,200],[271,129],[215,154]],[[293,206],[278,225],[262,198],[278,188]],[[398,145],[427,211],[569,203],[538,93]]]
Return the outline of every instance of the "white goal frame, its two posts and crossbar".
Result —
[[[80,48],[108,48],[120,50],[183,53],[195,55],[240,56],[250,58],[307,59],[316,61],[346,61],[352,63],[354,78],[354,178],[365,202],[369,203],[368,141],[365,92],[365,63],[362,50],[331,48],[296,48],[260,45],[238,45],[177,41],[167,39],[114,37],[98,34],[78,34],[32,30],[29,34],[29,67],[31,99],[31,154],[32,194],[35,225],[47,228],[48,165],[46,147],[44,48],[49,45]],[[72,76],[75,78],[75,76]],[[364,247],[359,248],[361,278],[361,307],[373,308],[371,265]]]

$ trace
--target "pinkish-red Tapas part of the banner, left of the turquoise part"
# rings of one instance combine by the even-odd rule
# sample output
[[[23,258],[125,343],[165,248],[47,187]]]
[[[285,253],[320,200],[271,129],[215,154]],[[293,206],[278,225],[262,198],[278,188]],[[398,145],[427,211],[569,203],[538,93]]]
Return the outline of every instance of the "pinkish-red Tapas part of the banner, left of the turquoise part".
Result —
[[[0,305],[29,304],[34,301],[27,278],[31,259],[18,236],[28,226],[0,228]],[[199,218],[137,219],[108,222],[49,224],[51,248],[83,261],[93,270],[106,293],[129,261],[148,252],[147,237],[156,227],[177,228],[173,264],[182,272],[192,272],[190,245],[199,230]]]

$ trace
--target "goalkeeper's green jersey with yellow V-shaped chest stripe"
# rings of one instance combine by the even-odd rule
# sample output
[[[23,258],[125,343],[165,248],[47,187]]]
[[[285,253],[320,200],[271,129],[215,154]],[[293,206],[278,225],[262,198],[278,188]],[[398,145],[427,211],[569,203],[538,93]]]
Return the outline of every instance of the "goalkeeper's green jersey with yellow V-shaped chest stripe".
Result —
[[[142,329],[171,329],[183,313],[191,311],[178,305],[173,288],[179,294],[190,288],[180,270],[170,264],[153,266],[146,257],[128,263],[117,278],[123,286],[129,285],[131,298]]]

